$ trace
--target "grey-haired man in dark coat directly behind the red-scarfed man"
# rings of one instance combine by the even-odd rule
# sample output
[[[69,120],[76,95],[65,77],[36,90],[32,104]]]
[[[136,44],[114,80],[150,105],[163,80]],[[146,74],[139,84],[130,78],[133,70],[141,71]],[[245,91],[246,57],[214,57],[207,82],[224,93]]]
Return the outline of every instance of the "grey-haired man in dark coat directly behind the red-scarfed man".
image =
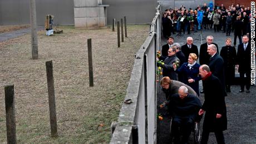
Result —
[[[210,57],[210,62],[209,62],[209,67],[211,69],[211,72],[215,77],[218,77],[221,86],[223,87],[224,90],[224,96],[227,96],[227,93],[225,91],[225,78],[224,78],[224,61],[223,58],[217,53],[217,47],[214,44],[210,44],[208,46],[207,52],[209,53]]]

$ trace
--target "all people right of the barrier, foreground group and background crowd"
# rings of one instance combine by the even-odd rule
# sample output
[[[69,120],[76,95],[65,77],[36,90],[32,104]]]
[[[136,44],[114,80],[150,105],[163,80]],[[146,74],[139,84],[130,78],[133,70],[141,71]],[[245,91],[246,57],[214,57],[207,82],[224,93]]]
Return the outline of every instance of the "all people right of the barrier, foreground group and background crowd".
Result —
[[[240,75],[240,90],[250,92],[250,8],[232,4],[225,8],[213,7],[211,4],[196,7],[194,10],[181,6],[179,9],[166,9],[163,14],[163,34],[168,39],[161,49],[161,57],[157,66],[163,68],[163,78],[160,85],[166,94],[166,104],[169,105],[173,117],[173,128],[181,126],[181,141],[177,133],[174,143],[187,143],[188,133],[191,133],[191,121],[195,115],[203,115],[203,133],[201,143],[207,143],[209,133],[214,132],[218,143],[225,143],[223,131],[227,130],[227,110],[225,96],[231,92],[235,79],[235,67]],[[213,29],[214,32],[226,33],[232,39],[225,39],[225,46],[220,49],[213,42],[213,36],[207,36],[206,42],[199,48],[193,44],[193,37],[186,38],[186,44],[175,43],[175,32],[197,32],[201,29]],[[236,50],[237,37],[239,38]],[[198,61],[199,59],[199,61]],[[199,63],[198,63],[199,62]],[[199,81],[203,82],[203,90],[199,91]],[[194,91],[191,92],[191,90]],[[204,93],[203,105],[191,98],[200,97]],[[188,107],[190,107],[188,109]],[[184,117],[186,113],[186,117]],[[193,114],[194,113],[194,114]],[[181,125],[183,123],[183,125]],[[179,133],[179,132],[178,132]]]

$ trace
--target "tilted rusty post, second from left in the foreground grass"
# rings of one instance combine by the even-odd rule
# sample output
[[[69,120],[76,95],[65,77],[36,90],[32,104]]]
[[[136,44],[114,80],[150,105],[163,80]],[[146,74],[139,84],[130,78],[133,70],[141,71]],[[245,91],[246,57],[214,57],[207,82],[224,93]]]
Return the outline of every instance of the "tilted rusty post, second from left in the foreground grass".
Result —
[[[58,132],[57,132],[57,117],[56,117],[52,61],[46,62],[46,75],[47,75],[48,99],[49,99],[49,110],[50,110],[51,137],[57,137]]]

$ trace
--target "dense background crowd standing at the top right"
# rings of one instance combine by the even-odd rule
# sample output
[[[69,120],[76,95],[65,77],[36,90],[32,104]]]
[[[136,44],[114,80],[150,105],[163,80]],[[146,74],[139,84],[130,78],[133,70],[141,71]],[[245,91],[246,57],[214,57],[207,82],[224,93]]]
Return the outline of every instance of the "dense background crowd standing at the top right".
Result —
[[[175,32],[190,34],[191,31],[214,29],[214,32],[223,32],[226,36],[234,32],[234,45],[237,44],[237,37],[241,44],[241,37],[250,31],[250,17],[250,7],[240,4],[232,4],[227,8],[223,4],[213,7],[211,3],[195,9],[186,9],[184,6],[170,8],[163,13],[163,35],[168,38]]]

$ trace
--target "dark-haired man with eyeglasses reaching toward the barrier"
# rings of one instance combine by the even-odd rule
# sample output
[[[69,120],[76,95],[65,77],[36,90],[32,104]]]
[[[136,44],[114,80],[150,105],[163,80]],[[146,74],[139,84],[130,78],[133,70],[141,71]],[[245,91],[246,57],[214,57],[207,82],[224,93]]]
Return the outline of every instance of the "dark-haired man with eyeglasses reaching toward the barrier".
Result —
[[[170,47],[168,50],[168,57],[165,58],[164,64],[160,64],[163,68],[163,77],[169,77],[171,80],[178,81],[178,74],[174,71],[173,63],[180,61],[176,57],[176,48]]]

